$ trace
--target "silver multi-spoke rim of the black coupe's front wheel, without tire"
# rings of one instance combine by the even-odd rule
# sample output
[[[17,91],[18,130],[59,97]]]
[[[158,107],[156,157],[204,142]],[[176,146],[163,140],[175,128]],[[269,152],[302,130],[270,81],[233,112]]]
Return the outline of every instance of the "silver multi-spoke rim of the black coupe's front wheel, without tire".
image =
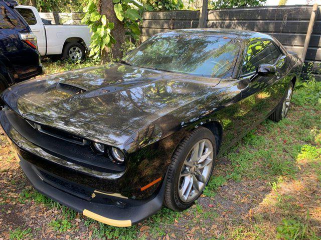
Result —
[[[187,155],[179,178],[179,196],[182,201],[195,200],[211,176],[213,145],[210,140],[198,141]]]

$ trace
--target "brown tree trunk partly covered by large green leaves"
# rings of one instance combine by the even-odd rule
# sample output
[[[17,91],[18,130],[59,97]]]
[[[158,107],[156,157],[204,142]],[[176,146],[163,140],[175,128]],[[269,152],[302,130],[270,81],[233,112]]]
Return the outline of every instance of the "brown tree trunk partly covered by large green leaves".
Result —
[[[112,0],[99,0],[98,11],[100,14],[106,15],[110,22],[114,23],[111,35],[115,38],[116,43],[112,45],[111,49],[105,47],[103,50],[101,60],[105,63],[111,60],[111,55],[113,58],[122,57],[121,44],[125,42],[125,28],[124,24],[116,17]]]

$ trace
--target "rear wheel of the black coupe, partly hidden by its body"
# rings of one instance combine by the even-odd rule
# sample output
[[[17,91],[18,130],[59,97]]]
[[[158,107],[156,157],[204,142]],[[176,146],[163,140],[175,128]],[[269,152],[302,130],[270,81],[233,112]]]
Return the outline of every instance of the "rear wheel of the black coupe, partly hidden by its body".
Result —
[[[284,92],[284,95],[281,101],[276,106],[272,114],[269,115],[269,119],[271,119],[272,121],[279,121],[286,117],[286,114],[290,107],[292,93],[293,93],[293,83],[290,82],[286,88],[286,91]]]

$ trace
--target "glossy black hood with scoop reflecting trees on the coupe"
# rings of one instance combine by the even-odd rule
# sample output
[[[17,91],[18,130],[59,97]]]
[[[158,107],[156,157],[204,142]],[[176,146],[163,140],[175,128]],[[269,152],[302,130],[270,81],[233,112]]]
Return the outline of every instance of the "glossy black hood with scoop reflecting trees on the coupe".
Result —
[[[19,102],[16,109],[22,115],[28,114],[30,107],[24,106],[28,102],[39,106],[38,115],[42,114],[39,111],[52,118],[63,114],[122,132],[159,109],[200,97],[201,91],[218,82],[216,78],[110,63],[21,82],[9,91],[20,98],[11,101]]]

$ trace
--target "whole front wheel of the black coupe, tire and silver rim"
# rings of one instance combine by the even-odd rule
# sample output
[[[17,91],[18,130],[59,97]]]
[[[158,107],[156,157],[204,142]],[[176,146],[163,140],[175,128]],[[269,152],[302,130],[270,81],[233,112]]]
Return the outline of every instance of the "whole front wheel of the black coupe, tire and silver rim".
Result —
[[[207,185],[216,157],[215,137],[198,127],[179,144],[166,178],[164,203],[173,210],[193,205]]]

